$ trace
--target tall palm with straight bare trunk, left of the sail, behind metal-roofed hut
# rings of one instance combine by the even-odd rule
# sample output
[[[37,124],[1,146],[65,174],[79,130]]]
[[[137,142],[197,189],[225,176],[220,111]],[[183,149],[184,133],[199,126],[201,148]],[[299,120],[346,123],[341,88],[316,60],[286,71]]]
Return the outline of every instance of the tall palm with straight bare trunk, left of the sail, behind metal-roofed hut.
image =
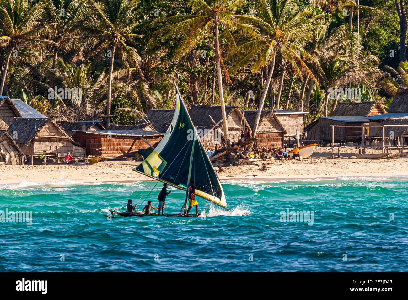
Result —
[[[107,128],[111,123],[113,65],[116,52],[119,52],[122,63],[127,69],[130,69],[129,62],[133,64],[133,67],[139,66],[140,56],[137,50],[128,44],[142,37],[140,34],[133,33],[139,24],[136,12],[139,0],[101,0],[98,2],[91,0],[91,2],[99,19],[98,24],[80,25],[73,27],[72,30],[82,31],[82,35],[76,38],[95,39],[95,49],[91,51],[90,56],[101,57],[107,54],[110,59],[106,97]]]

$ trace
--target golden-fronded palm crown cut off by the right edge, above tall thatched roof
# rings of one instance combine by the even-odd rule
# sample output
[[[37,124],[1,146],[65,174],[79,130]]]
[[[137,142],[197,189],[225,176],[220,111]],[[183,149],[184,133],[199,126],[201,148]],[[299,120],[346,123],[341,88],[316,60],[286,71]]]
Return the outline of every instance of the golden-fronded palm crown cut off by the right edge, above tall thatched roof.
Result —
[[[400,62],[397,69],[384,66],[385,78],[378,85],[391,97],[397,95],[399,87],[408,87],[408,62]]]

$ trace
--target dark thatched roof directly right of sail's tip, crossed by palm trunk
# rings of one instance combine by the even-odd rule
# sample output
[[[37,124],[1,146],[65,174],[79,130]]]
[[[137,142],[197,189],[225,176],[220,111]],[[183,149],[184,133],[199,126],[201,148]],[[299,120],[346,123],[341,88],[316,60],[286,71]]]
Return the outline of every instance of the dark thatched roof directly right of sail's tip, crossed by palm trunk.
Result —
[[[239,111],[237,106],[226,106],[225,112],[227,118],[234,111]],[[221,106],[217,105],[193,104],[188,109],[188,114],[190,115],[190,118],[195,126],[214,126],[215,124],[222,122]],[[211,116],[215,124],[209,116]]]

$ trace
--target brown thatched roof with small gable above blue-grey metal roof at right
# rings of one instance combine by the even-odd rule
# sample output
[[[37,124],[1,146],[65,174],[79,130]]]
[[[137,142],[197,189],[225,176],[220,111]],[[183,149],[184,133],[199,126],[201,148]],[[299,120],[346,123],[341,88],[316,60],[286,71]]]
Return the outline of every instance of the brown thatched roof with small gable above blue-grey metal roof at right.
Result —
[[[385,113],[384,106],[379,101],[367,102],[340,102],[335,110],[331,113],[331,117],[339,116],[374,116],[380,113]]]

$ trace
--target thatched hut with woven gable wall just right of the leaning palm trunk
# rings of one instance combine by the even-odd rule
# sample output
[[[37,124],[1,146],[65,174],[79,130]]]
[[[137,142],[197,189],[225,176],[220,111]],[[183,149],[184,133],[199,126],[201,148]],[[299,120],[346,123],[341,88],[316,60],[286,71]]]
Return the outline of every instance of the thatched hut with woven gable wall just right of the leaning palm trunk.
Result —
[[[257,111],[243,111],[251,130],[254,129]],[[254,148],[258,151],[272,151],[284,147],[284,134],[286,133],[275,111],[265,110],[261,113],[257,129],[257,142]]]

